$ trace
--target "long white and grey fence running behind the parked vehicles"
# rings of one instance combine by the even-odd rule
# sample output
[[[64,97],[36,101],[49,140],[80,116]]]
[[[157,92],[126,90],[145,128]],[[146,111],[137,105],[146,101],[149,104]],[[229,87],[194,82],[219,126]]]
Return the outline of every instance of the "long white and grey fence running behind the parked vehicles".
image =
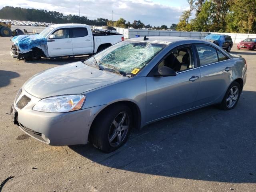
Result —
[[[102,27],[94,27],[96,29],[102,29]],[[176,36],[176,37],[191,37],[196,39],[202,39],[206,37],[208,32],[183,32],[183,31],[162,31],[162,30],[143,30],[143,29],[125,29],[115,27],[116,31],[124,35],[125,39],[130,39],[136,37],[136,35],[143,36]],[[221,34],[229,35],[232,38],[233,43],[239,43],[246,38],[256,38],[256,34],[243,34],[243,33],[212,33],[211,34]]]

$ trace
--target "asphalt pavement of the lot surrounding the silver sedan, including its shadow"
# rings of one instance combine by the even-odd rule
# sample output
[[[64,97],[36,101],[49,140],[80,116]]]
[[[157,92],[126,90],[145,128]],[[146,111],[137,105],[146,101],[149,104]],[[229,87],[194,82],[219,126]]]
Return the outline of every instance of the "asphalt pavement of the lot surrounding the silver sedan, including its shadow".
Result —
[[[11,45],[0,38],[0,183],[14,176],[2,191],[256,191],[256,50],[232,48],[248,65],[236,108],[209,106],[132,130],[124,146],[105,154],[91,144],[50,146],[13,124],[10,104],[28,78],[81,58],[19,61]]]

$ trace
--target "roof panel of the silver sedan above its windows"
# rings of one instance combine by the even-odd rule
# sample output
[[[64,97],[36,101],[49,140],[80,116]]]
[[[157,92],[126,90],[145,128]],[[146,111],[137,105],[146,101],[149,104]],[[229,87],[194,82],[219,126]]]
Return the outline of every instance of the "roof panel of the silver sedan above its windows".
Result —
[[[174,42],[179,42],[179,41],[188,41],[188,43],[201,43],[201,42],[206,42],[206,40],[201,40],[201,39],[196,39],[196,38],[189,38],[189,37],[175,37],[175,36],[148,36],[148,40],[144,40],[144,37],[138,37],[138,38],[131,38],[128,39],[130,41],[138,41],[138,42],[151,42],[151,43],[160,43],[160,44],[166,44],[170,45],[171,43]]]

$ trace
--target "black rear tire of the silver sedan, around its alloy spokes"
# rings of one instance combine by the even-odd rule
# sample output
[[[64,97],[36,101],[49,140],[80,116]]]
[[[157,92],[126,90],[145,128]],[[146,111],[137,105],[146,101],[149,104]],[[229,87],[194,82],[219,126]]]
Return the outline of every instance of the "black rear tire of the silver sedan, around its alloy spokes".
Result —
[[[232,98],[232,96],[230,95],[231,94],[231,89],[233,89],[233,91],[235,92],[235,88],[237,88],[237,91],[238,91],[238,95],[237,96],[234,96],[234,98],[236,98],[234,104],[228,104],[228,102],[230,102],[230,100],[228,101],[228,98]],[[224,98],[222,99],[222,102],[219,104],[219,108],[222,109],[222,110],[230,110],[230,109],[233,109],[239,98],[240,98],[240,94],[241,94],[242,90],[241,90],[241,87],[240,87],[240,84],[238,82],[233,82],[229,87],[228,87],[228,90],[226,91],[226,94],[224,95]],[[233,99],[231,99],[231,102],[233,102]]]

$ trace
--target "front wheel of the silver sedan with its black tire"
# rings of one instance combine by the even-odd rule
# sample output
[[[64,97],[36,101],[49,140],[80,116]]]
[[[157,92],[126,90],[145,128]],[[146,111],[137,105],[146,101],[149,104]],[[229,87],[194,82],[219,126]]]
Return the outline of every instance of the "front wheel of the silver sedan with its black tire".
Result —
[[[122,123],[121,119],[124,113],[126,116]],[[117,128],[113,123],[114,120],[117,122],[117,124],[115,123]],[[94,120],[90,130],[90,142],[99,150],[112,152],[127,141],[132,121],[132,110],[128,106],[122,104],[107,108]],[[125,130],[122,130],[122,127]]]

